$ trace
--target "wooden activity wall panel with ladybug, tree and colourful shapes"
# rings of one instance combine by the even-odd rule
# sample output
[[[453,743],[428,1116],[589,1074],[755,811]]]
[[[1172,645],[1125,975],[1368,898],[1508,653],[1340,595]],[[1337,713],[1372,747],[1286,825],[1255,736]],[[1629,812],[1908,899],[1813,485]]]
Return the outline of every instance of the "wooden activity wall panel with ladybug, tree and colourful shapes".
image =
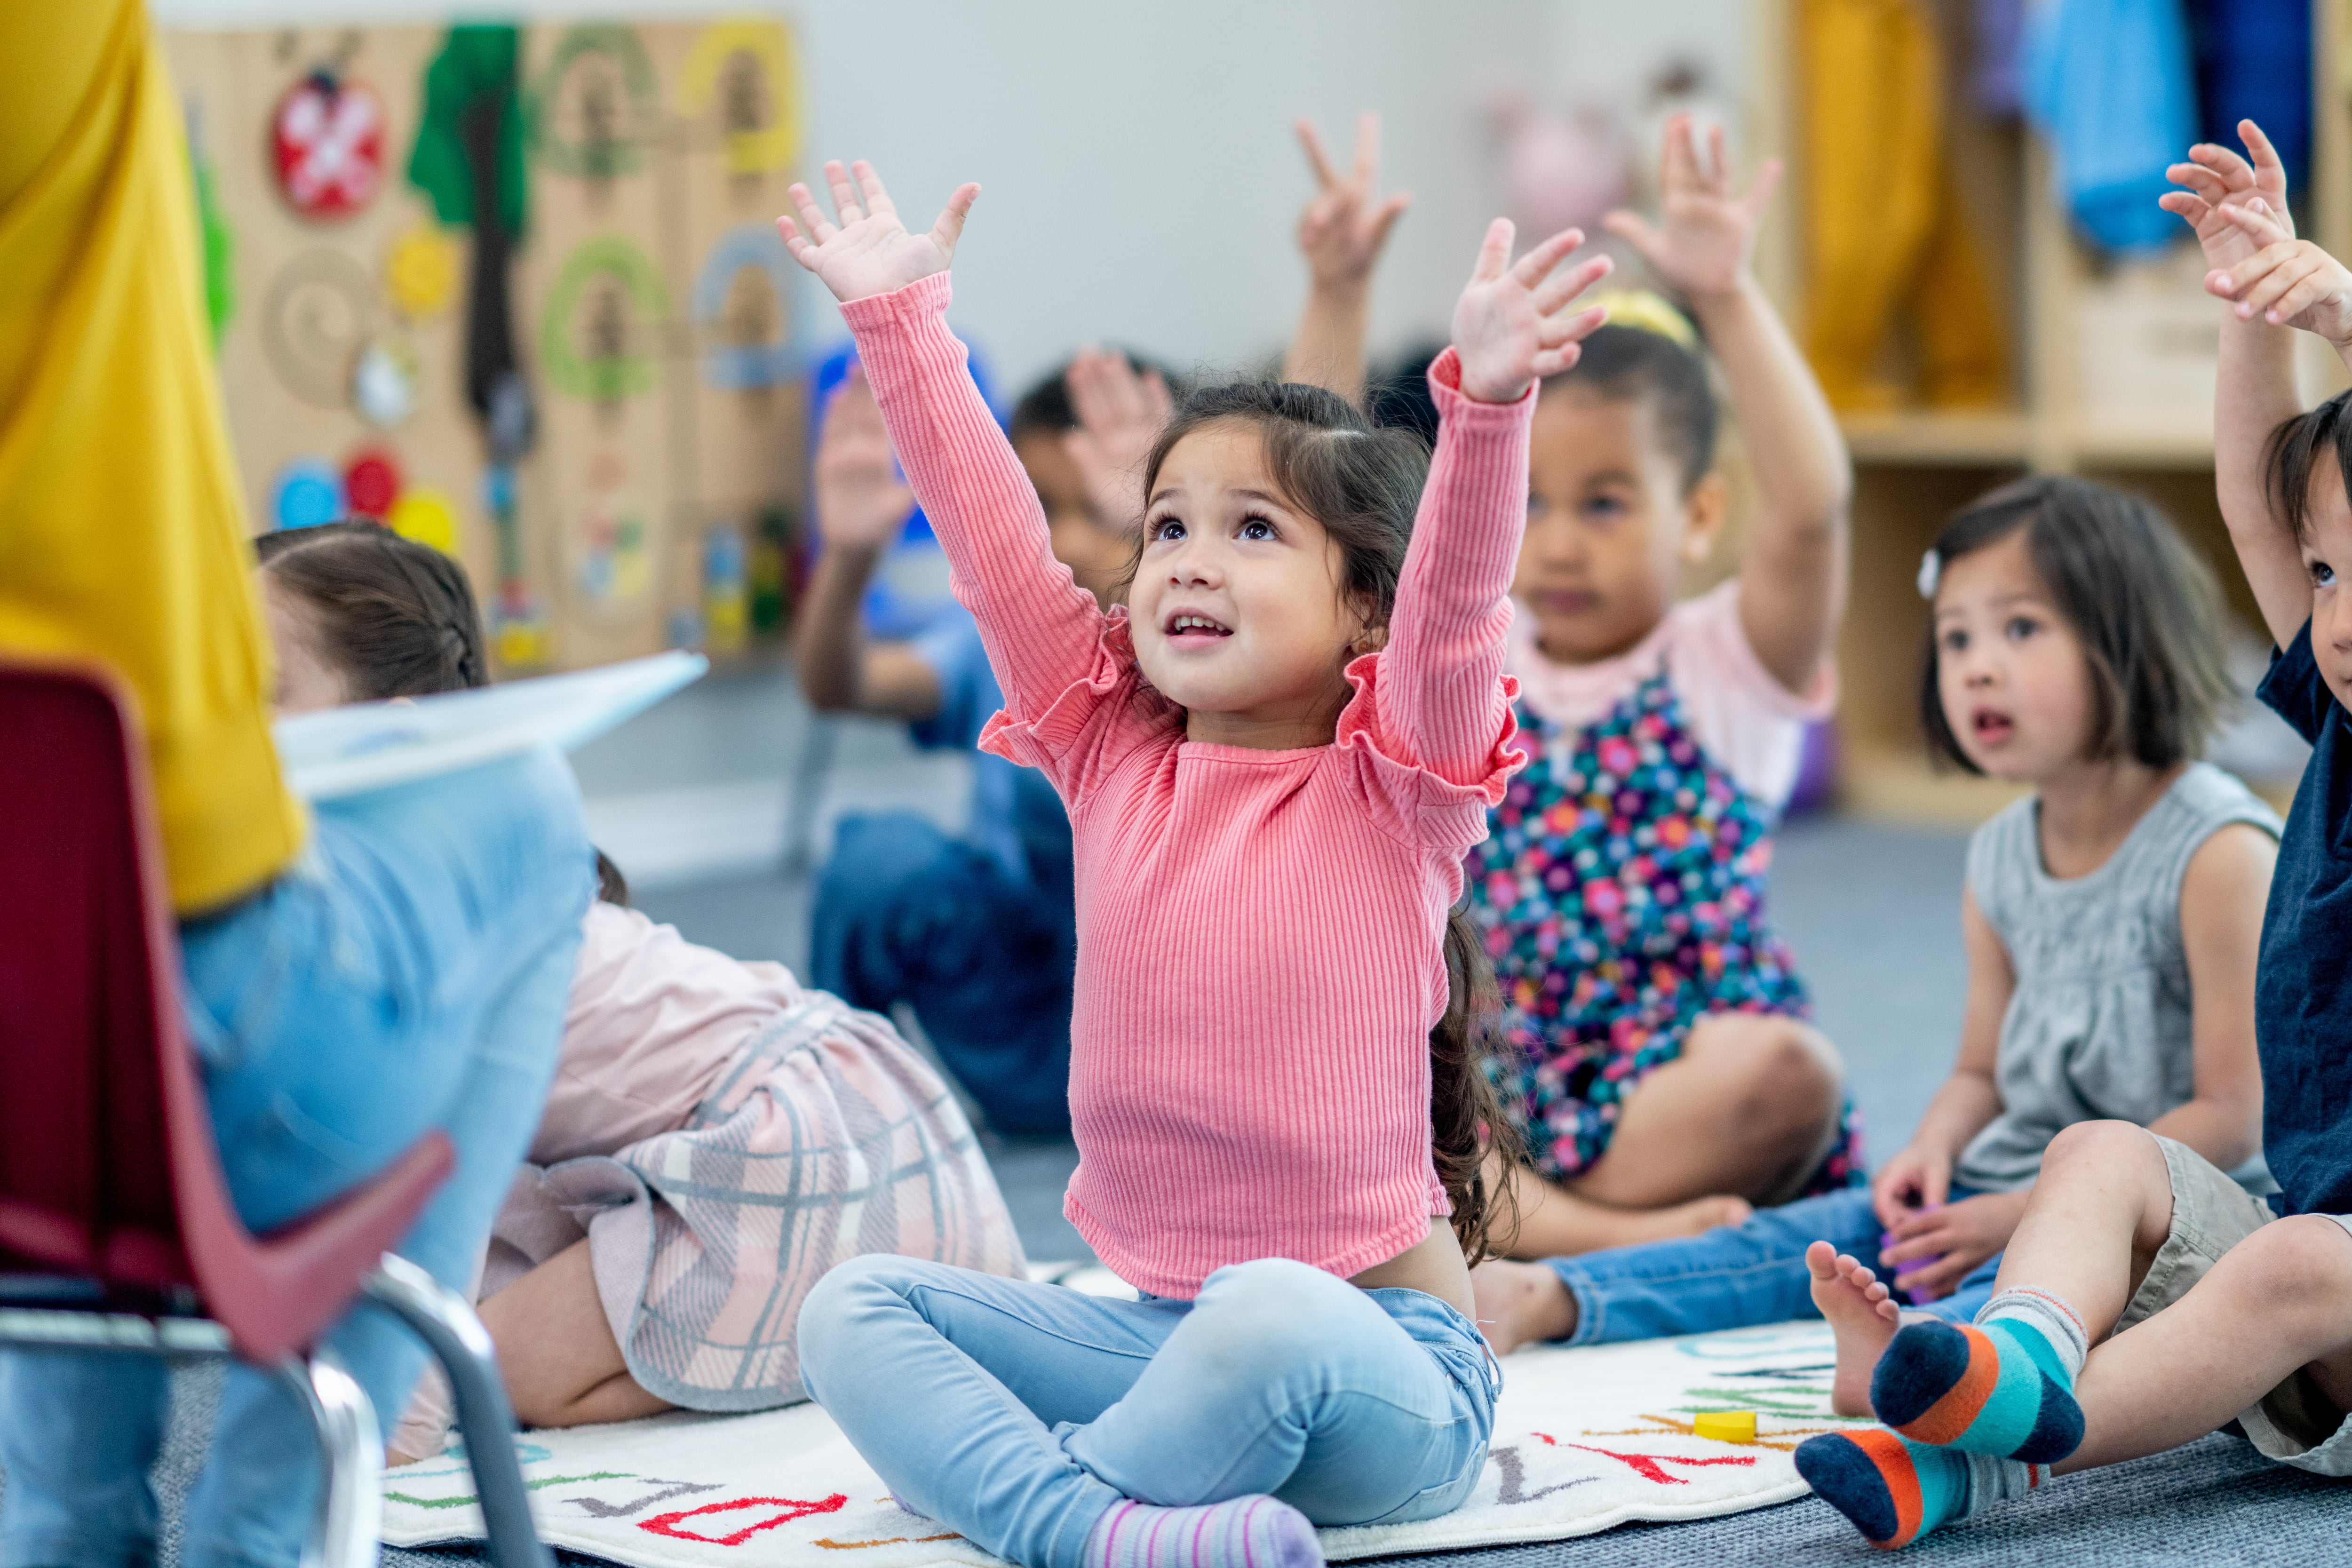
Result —
[[[503,668],[783,614],[809,292],[790,31],[167,35],[254,527],[459,555]]]

